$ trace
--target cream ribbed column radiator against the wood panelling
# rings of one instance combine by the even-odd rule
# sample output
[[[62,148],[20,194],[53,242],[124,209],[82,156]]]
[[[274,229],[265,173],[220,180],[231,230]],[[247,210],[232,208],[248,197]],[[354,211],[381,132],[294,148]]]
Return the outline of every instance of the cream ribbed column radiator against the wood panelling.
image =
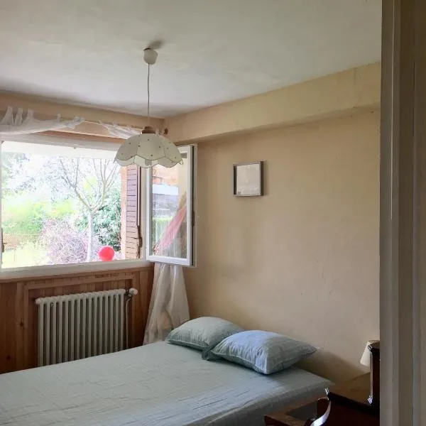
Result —
[[[138,290],[39,297],[38,365],[121,351],[128,346],[127,305]]]

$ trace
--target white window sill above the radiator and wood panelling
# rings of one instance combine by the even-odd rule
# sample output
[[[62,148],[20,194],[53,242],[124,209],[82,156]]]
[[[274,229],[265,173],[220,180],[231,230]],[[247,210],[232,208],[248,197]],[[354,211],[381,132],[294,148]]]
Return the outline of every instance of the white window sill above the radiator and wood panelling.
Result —
[[[46,275],[67,275],[75,273],[90,273],[114,271],[120,269],[146,268],[152,263],[142,259],[129,261],[72,263],[67,265],[27,266],[23,268],[0,269],[0,283],[7,280],[18,280],[21,278],[37,278]]]

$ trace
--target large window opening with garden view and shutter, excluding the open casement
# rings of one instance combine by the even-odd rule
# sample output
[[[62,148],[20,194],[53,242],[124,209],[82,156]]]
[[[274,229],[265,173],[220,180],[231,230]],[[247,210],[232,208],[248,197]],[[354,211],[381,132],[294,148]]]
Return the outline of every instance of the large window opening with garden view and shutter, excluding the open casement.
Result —
[[[75,143],[1,144],[2,268],[138,257],[138,171],[114,163],[115,143]]]

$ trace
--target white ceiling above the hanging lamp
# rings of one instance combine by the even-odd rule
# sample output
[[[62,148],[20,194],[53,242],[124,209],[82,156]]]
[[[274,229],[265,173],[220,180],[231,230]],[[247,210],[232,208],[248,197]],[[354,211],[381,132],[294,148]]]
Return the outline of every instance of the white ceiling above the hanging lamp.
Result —
[[[0,90],[155,116],[380,60],[381,0],[0,0]]]

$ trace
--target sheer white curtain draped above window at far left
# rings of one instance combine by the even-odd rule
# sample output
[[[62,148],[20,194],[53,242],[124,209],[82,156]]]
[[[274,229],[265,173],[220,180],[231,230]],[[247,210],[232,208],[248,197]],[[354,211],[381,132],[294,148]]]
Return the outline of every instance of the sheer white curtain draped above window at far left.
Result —
[[[72,120],[61,120],[60,115],[53,120],[38,120],[34,118],[34,112],[31,109],[28,109],[24,118],[22,108],[18,108],[16,114],[13,115],[13,108],[8,107],[6,114],[0,121],[0,136],[23,135],[65,128],[74,129],[77,124],[83,121],[82,117],[75,117]]]

